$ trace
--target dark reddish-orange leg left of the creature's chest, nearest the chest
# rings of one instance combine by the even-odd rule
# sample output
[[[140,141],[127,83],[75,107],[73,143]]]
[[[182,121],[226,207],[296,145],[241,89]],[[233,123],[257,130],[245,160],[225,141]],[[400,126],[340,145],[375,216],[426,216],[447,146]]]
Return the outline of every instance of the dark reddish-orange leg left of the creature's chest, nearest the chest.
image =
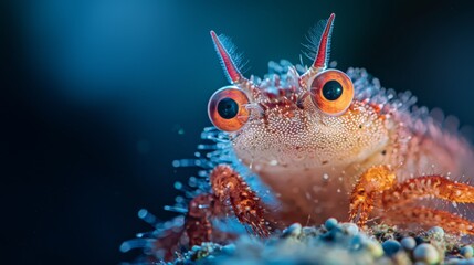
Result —
[[[229,202],[239,221],[253,233],[268,236],[271,227],[264,219],[265,208],[256,193],[231,167],[220,165],[211,172],[211,187],[221,202]]]

